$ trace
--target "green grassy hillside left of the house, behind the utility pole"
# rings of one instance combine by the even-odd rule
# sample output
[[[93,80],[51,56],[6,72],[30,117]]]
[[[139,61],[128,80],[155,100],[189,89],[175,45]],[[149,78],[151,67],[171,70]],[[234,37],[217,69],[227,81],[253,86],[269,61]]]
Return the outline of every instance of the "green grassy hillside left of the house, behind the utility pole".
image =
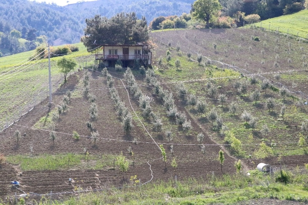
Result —
[[[86,60],[87,65],[94,63],[94,57],[82,43],[74,45],[79,47],[79,51],[67,57],[76,59],[78,65],[75,69],[82,66],[83,62],[85,64]],[[0,58],[0,100],[3,102],[0,105],[0,126],[5,124],[6,118],[9,121],[12,118],[16,120],[19,109],[24,111],[29,104],[40,102],[47,97],[48,59],[29,62],[28,58],[34,53],[32,50]],[[63,81],[63,74],[57,66],[60,58],[62,57],[51,58],[53,90]]]

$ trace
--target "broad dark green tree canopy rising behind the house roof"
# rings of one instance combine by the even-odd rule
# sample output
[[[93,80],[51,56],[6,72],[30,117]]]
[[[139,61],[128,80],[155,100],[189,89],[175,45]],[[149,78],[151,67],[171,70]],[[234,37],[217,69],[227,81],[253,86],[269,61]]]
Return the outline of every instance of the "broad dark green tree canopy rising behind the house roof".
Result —
[[[149,39],[147,21],[138,19],[134,12],[119,13],[111,18],[95,15],[86,19],[86,28],[81,42],[88,48],[96,44],[136,44]]]

